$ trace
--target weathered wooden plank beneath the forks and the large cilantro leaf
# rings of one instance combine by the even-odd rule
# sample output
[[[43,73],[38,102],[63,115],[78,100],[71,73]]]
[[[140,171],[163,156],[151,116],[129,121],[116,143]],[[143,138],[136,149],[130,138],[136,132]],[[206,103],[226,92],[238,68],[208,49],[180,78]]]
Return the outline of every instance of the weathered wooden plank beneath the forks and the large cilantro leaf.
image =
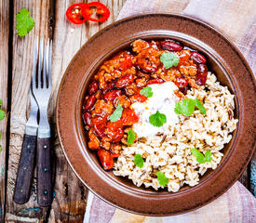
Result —
[[[13,24],[13,60],[12,60],[12,98],[10,116],[10,139],[8,154],[7,178],[7,216],[6,222],[32,220],[42,221],[47,218],[47,208],[39,208],[33,192],[28,203],[13,202],[13,190],[17,168],[20,160],[20,149],[24,127],[28,118],[29,88],[33,66],[33,50],[35,36],[48,36],[49,8],[52,1],[14,0],[14,17],[21,8],[27,8],[35,21],[34,30],[24,37],[19,37]],[[35,176],[35,175],[34,175]],[[36,178],[34,177],[34,183]],[[14,217],[15,216],[15,217]],[[20,217],[23,218],[20,218]],[[31,217],[32,219],[30,219]]]

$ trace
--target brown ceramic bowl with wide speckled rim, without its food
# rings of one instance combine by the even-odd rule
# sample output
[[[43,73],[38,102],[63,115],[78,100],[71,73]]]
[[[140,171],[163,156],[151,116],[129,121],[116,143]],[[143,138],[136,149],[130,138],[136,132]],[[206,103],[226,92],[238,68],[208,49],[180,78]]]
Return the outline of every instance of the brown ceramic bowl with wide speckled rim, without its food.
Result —
[[[137,38],[171,38],[201,51],[208,59],[209,71],[236,95],[235,116],[239,122],[231,142],[223,149],[222,163],[201,177],[193,188],[183,187],[176,193],[138,188],[127,178],[104,171],[95,152],[88,150],[81,117],[88,84],[104,60]],[[74,173],[104,201],[141,215],[181,214],[222,195],[249,164],[255,149],[252,122],[256,116],[255,100],[255,79],[248,63],[221,33],[201,21],[181,15],[143,14],[111,24],[96,33],[76,53],[59,90],[58,133]]]

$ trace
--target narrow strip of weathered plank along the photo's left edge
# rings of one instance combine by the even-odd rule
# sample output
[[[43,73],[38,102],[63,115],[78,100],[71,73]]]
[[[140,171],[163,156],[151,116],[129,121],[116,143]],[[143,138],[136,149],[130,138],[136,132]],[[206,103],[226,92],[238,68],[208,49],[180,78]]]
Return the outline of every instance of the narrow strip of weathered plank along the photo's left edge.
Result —
[[[0,2],[0,99],[3,100],[2,109],[7,111],[7,87],[8,87],[8,37],[9,37],[9,3]],[[0,221],[4,222],[5,191],[6,191],[6,139],[7,139],[7,117],[0,122]]]

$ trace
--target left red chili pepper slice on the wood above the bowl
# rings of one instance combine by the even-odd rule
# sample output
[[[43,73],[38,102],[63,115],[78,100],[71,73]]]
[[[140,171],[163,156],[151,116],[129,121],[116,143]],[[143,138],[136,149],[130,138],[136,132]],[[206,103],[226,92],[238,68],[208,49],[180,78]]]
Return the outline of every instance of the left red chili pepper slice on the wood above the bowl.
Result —
[[[77,3],[72,5],[71,7],[68,7],[66,11],[66,17],[68,20],[70,20],[74,24],[82,24],[86,20],[88,20],[87,17],[83,16],[82,9],[84,10],[90,9],[88,7],[88,4],[86,3]]]

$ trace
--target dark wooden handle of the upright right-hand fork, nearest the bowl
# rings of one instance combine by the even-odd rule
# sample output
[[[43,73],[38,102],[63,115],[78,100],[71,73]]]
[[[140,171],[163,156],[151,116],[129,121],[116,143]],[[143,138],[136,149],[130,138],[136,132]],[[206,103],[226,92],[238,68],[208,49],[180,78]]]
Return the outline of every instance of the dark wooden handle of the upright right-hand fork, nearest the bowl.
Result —
[[[37,138],[37,203],[49,206],[51,202],[50,138]]]

